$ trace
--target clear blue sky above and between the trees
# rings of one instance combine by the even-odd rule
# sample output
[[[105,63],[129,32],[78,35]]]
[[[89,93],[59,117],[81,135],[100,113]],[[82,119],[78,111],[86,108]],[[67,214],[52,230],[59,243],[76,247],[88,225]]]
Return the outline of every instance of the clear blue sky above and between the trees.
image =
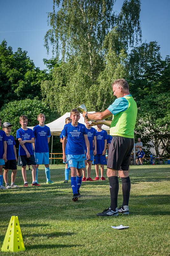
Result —
[[[123,0],[117,0],[114,10],[120,11]],[[53,0],[0,0],[0,43],[5,39],[13,51],[18,47],[28,52],[36,67],[45,68],[44,36],[49,29],[47,12]],[[164,59],[170,54],[170,0],[141,0],[142,41],[157,41]]]

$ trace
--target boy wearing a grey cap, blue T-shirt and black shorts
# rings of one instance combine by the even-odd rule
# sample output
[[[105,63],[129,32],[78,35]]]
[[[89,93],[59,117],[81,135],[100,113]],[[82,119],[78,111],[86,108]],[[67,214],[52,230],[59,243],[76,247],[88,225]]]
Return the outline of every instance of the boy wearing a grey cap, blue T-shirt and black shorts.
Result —
[[[2,125],[2,129],[6,134],[6,144],[7,144],[7,162],[4,165],[4,181],[5,181],[5,188],[19,188],[17,185],[15,185],[15,178],[17,175],[17,152],[15,148],[15,139],[11,133],[11,126],[12,124],[5,122]],[[8,171],[12,170],[11,173],[11,186],[8,184]]]

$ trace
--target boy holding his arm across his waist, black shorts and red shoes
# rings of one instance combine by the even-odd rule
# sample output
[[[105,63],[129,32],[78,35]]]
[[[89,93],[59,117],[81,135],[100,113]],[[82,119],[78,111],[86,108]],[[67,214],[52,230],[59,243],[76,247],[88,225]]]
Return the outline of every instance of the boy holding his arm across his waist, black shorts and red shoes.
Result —
[[[19,117],[19,123],[21,128],[17,130],[16,138],[19,140],[19,151],[18,155],[22,164],[22,176],[24,179],[24,187],[28,187],[28,182],[26,180],[26,165],[32,165],[32,186],[40,186],[35,182],[36,176],[36,162],[34,152],[32,150],[32,143],[34,143],[34,134],[32,129],[27,128],[28,117],[22,115]]]

